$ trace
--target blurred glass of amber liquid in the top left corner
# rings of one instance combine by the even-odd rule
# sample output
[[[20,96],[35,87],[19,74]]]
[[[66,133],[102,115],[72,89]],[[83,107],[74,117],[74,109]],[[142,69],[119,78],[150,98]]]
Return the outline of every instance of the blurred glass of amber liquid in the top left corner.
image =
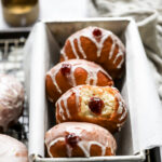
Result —
[[[39,14],[38,0],[2,0],[3,16],[11,26],[31,25]]]

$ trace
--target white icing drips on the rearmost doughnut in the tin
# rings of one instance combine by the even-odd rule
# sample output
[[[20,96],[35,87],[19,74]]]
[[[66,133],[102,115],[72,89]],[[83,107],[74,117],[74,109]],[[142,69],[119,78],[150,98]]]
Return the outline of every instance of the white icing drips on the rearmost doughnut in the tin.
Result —
[[[108,37],[111,37],[111,39],[112,39],[112,45],[111,45],[111,49],[110,49],[110,52],[109,52],[108,59],[112,58],[116,45],[118,45],[119,46],[119,53],[116,55],[116,57],[114,57],[114,59],[113,59],[112,63],[116,64],[118,57],[122,56],[121,62],[117,66],[117,68],[121,68],[121,66],[122,66],[122,64],[124,62],[124,46],[123,46],[123,44],[109,30],[105,30],[105,29],[98,28],[102,31],[102,37],[99,38],[99,37],[93,36],[93,30],[95,28],[98,28],[98,27],[87,27],[87,28],[84,28],[84,29],[82,29],[82,30],[78,31],[77,33],[73,33],[72,36],[69,37],[68,40],[69,40],[69,42],[71,44],[71,49],[72,49],[72,52],[73,52],[76,58],[79,58],[79,55],[78,55],[78,53],[76,51],[76,46],[73,44],[75,40],[77,40],[77,42],[78,42],[78,48],[79,48],[80,53],[83,55],[83,58],[86,58],[86,54],[83,51],[83,48],[81,45],[81,40],[80,40],[81,37],[85,37],[85,38],[90,39],[96,45],[96,48],[97,48],[97,52],[96,52],[97,57],[100,57],[104,42],[108,39]],[[96,38],[99,38],[100,40],[98,41]],[[67,60],[67,54],[65,53],[65,46],[63,48],[63,50],[62,50],[60,53],[62,53],[63,57],[65,58],[65,60]]]

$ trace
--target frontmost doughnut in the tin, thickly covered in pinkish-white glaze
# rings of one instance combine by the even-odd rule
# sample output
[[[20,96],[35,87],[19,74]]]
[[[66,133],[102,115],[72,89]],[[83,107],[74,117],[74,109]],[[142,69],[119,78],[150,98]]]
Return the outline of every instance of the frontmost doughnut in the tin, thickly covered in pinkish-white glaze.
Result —
[[[84,122],[65,122],[45,134],[50,157],[114,156],[117,144],[112,135],[102,126]]]

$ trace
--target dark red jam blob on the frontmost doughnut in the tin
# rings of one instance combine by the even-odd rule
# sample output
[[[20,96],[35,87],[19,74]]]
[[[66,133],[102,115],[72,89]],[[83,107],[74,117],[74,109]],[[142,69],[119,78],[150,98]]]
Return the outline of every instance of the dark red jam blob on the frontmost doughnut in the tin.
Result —
[[[71,146],[71,147],[76,147],[78,141],[81,140],[79,136],[72,134],[68,134],[65,136],[65,140],[66,143]]]

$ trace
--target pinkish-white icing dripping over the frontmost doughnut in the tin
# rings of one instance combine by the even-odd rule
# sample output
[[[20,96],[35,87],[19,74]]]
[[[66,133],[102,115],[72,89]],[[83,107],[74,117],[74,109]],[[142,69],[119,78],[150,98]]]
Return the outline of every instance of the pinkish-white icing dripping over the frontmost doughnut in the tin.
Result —
[[[94,136],[93,136],[94,132]],[[117,148],[116,140],[112,135],[104,130],[100,126],[91,124],[91,123],[82,123],[82,122],[65,122],[59,125],[54,126],[45,134],[45,145],[49,148],[54,146],[59,140],[65,141],[65,135],[75,134],[80,138],[77,143],[77,146],[82,150],[85,157],[91,156],[91,148],[93,145],[96,145],[100,148],[100,156],[106,154],[107,148],[110,149],[113,154]],[[69,144],[65,144],[66,153],[68,157],[72,157],[72,149]]]

